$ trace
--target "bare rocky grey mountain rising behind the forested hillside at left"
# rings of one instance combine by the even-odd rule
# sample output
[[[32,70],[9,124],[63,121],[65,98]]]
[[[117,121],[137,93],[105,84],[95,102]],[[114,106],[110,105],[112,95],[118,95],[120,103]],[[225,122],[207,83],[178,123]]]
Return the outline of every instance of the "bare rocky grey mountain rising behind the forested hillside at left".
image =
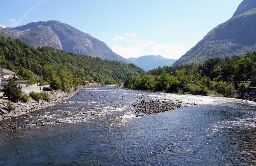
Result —
[[[0,36],[20,38],[34,47],[48,46],[76,54],[131,63],[114,53],[104,42],[59,21],[39,21],[14,28],[1,28]]]

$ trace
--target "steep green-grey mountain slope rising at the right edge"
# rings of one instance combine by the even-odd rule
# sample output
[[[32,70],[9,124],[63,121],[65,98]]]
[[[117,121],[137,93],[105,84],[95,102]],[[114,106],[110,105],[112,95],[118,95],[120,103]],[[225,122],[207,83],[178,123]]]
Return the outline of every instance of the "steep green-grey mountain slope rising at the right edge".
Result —
[[[242,56],[256,50],[256,1],[244,0],[232,18],[213,28],[173,65],[203,63],[208,58]]]

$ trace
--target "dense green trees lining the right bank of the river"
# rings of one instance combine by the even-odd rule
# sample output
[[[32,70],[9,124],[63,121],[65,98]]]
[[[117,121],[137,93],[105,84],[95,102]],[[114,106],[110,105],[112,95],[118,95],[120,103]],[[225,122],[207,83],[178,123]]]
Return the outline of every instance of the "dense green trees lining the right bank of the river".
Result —
[[[250,80],[254,68],[256,51],[247,52],[243,57],[210,58],[199,65],[158,67],[145,75],[128,77],[124,86],[138,90],[234,96],[248,86],[246,81]]]

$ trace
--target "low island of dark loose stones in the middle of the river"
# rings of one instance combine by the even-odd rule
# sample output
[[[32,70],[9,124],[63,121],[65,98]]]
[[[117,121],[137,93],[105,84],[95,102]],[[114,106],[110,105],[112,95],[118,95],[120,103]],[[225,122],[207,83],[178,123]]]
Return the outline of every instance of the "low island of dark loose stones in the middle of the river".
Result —
[[[139,104],[134,104],[135,112],[137,112],[136,116],[143,116],[143,114],[151,114],[151,113],[160,113],[164,111],[171,111],[177,108],[183,107],[180,103],[167,102],[167,101],[157,101],[157,100],[141,100]],[[140,114],[143,113],[143,114]]]

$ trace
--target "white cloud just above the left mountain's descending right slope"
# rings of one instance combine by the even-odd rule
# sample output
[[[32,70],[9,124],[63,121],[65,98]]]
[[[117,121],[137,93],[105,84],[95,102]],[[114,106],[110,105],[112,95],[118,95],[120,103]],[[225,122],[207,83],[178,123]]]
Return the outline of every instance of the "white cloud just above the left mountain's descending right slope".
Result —
[[[124,58],[130,58],[130,57],[140,57],[142,48],[138,45],[136,46],[129,46],[129,47],[123,47],[123,46],[113,46],[111,49],[118,55],[123,56]]]

